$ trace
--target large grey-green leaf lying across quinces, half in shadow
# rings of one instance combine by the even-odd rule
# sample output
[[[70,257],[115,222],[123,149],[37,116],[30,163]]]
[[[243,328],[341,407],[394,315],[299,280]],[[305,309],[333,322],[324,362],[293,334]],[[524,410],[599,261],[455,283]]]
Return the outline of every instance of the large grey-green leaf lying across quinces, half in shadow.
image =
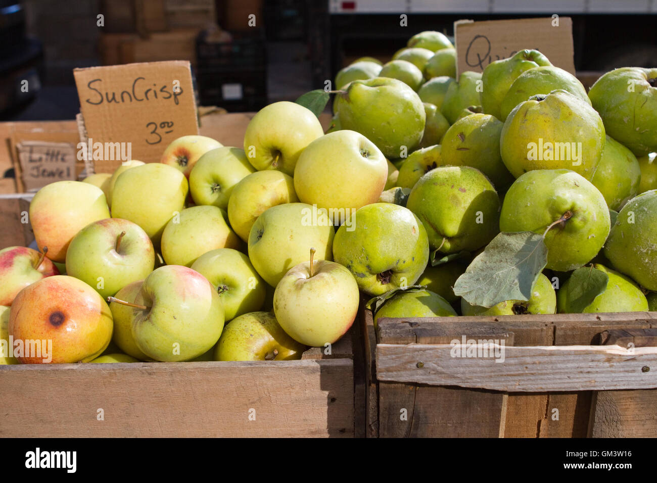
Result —
[[[499,233],[457,279],[454,293],[470,305],[486,308],[505,300],[529,300],[546,264],[543,235]]]

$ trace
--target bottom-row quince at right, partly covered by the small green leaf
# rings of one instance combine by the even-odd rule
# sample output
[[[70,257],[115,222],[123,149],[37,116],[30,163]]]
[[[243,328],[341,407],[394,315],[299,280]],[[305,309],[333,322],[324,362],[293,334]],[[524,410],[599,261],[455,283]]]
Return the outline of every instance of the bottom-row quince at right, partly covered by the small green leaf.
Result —
[[[643,312],[648,311],[648,300],[641,288],[622,273],[608,269],[604,265],[593,264],[592,270],[600,270],[609,277],[604,292],[586,306],[583,313],[595,312]],[[559,313],[570,311],[570,298],[573,292],[579,292],[578,287],[566,280],[556,293],[556,307]]]

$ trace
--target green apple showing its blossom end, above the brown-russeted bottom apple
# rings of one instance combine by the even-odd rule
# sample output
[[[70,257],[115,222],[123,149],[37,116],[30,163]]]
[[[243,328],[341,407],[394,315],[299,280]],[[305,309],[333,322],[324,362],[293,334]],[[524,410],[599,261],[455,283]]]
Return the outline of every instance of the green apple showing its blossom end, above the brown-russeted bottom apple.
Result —
[[[217,290],[226,322],[262,308],[266,284],[242,252],[232,248],[211,250],[198,257],[191,268]]]

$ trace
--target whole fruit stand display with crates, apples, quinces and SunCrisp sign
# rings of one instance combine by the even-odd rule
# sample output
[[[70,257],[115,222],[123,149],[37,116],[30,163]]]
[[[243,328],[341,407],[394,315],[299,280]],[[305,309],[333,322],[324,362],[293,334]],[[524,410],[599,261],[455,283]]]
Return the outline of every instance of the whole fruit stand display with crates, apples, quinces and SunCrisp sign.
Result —
[[[210,136],[189,64],[76,70],[79,152],[145,157],[0,198],[0,434],[656,436],[657,69],[456,58]]]

